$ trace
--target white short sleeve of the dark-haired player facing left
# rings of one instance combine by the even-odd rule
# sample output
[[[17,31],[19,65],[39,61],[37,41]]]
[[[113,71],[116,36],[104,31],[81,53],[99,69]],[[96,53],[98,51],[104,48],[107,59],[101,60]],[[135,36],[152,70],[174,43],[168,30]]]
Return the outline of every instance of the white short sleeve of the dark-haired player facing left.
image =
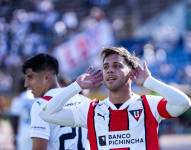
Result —
[[[44,102],[42,100],[36,100],[31,108],[31,138],[43,138],[49,140],[50,137],[50,125],[48,122],[42,120],[39,116],[41,107],[43,107]]]

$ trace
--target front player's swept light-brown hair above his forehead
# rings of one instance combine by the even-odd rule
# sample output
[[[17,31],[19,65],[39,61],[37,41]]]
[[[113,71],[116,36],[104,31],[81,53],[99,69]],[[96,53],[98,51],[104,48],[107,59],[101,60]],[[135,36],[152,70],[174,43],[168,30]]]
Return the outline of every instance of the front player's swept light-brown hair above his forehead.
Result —
[[[102,60],[104,61],[106,57],[111,54],[118,54],[125,58],[127,65],[129,65],[132,69],[135,69],[138,66],[139,58],[135,56],[135,54],[131,54],[124,47],[107,47],[103,48],[101,52]]]

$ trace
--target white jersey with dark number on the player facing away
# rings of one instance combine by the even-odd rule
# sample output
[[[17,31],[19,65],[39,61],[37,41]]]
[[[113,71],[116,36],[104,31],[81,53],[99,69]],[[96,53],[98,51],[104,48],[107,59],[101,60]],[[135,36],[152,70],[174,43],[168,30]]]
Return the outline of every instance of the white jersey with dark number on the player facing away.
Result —
[[[51,124],[42,120],[40,110],[57,94],[59,89],[49,90],[44,97],[36,99],[31,109],[31,138],[48,140],[48,150],[83,150],[87,144],[87,129],[71,128]],[[81,103],[81,96],[75,95],[66,105]]]

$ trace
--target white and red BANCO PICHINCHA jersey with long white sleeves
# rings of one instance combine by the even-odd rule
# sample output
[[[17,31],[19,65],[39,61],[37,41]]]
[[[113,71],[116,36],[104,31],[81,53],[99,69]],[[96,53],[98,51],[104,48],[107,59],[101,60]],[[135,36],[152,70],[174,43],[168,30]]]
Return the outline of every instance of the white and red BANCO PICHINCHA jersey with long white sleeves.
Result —
[[[67,100],[81,91],[74,82],[53,97],[40,116],[52,123],[88,128],[91,150],[159,150],[160,121],[181,115],[191,102],[181,91],[152,77],[144,86],[162,97],[133,94],[119,109],[109,98],[91,102],[82,97],[80,105],[66,109]]]

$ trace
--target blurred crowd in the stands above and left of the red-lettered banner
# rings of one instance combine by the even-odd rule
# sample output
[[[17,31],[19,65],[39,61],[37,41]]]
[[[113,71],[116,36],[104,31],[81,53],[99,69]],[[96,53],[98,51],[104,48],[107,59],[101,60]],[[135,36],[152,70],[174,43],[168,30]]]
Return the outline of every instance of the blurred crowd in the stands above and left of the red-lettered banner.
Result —
[[[15,91],[16,80],[21,76],[23,60],[36,53],[53,53],[56,47],[76,34],[91,30],[97,24],[110,23],[103,11],[91,8],[79,18],[74,10],[57,11],[51,0],[28,1],[29,8],[14,9],[11,14],[0,17],[0,91]],[[27,4],[27,3],[26,3]],[[8,4],[7,4],[8,5]],[[0,5],[5,14],[4,5]],[[16,6],[14,6],[16,7]],[[18,5],[19,7],[19,5]],[[80,22],[79,22],[79,19]]]

